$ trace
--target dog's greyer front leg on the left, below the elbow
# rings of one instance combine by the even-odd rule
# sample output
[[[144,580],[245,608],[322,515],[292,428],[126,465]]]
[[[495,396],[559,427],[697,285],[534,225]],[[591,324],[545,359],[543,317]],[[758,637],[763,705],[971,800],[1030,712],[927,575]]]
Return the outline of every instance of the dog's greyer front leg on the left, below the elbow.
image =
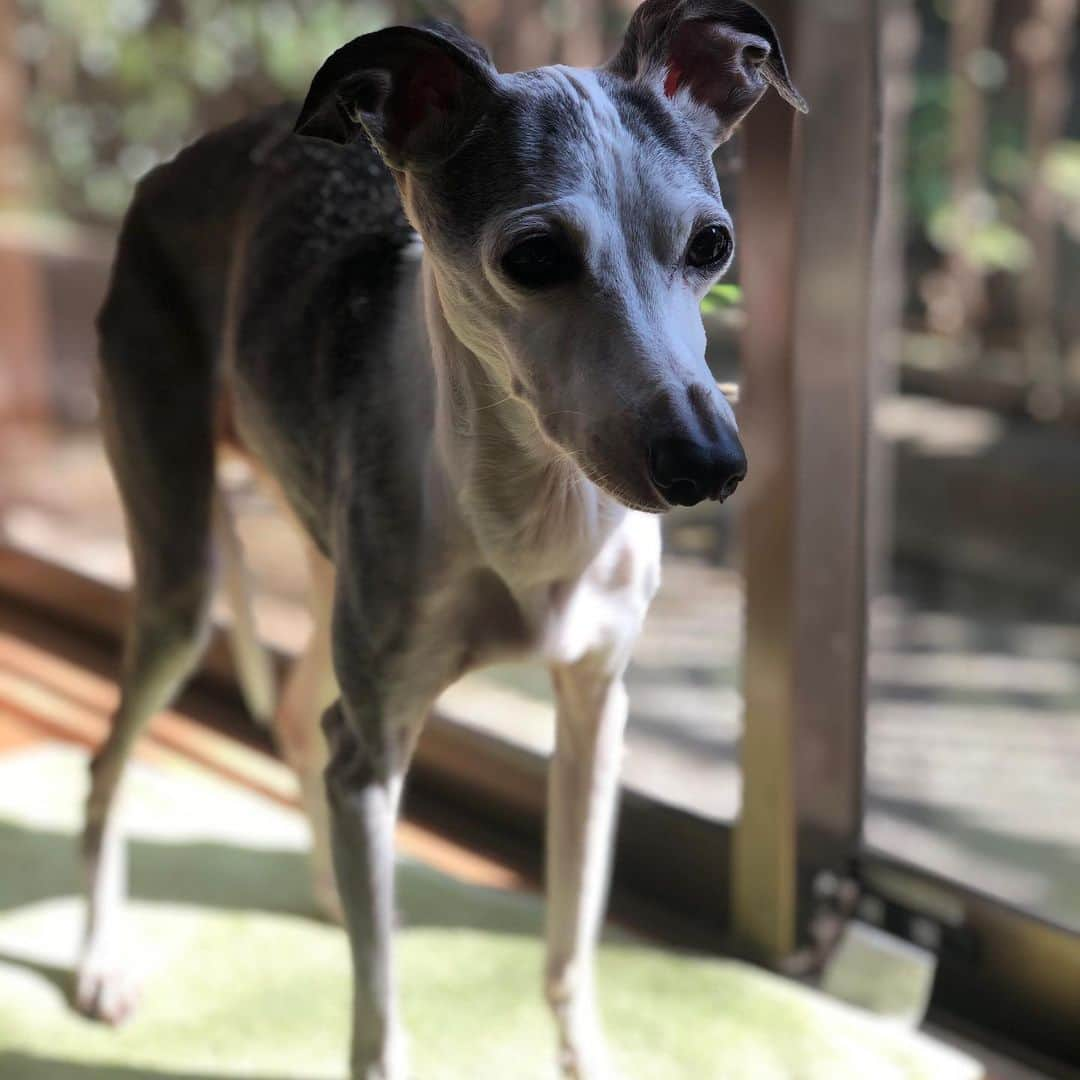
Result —
[[[393,729],[373,696],[326,711],[326,791],[338,892],[352,953],[352,1080],[405,1080],[392,961],[394,823],[418,717]]]

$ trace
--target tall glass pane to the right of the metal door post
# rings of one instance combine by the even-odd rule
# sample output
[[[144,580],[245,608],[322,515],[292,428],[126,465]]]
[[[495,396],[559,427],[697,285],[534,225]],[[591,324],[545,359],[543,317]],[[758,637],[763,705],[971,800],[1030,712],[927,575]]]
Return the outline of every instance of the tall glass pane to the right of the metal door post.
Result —
[[[901,333],[870,482],[865,837],[1080,929],[1076,15],[912,10],[918,50],[889,73]]]

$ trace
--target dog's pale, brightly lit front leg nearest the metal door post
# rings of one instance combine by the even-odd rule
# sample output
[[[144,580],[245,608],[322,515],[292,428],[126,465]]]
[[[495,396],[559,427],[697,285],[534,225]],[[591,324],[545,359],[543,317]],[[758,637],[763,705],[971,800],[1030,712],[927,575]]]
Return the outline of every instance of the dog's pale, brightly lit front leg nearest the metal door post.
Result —
[[[594,955],[610,872],[626,690],[606,657],[552,667],[557,730],[548,788],[546,994],[564,1076],[611,1075]]]

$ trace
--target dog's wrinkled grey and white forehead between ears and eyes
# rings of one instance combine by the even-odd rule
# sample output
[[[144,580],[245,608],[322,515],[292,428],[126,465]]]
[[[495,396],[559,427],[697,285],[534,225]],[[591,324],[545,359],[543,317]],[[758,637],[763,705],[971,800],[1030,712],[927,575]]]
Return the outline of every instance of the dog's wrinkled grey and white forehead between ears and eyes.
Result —
[[[475,237],[496,215],[567,197],[650,217],[719,199],[708,147],[648,86],[566,67],[503,81],[502,108],[440,177],[444,226]]]

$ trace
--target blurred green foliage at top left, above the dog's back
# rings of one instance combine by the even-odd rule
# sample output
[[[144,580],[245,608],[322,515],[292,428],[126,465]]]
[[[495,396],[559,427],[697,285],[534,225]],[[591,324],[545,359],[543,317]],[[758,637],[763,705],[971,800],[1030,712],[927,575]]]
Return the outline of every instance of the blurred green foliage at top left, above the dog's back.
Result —
[[[40,205],[114,220],[157,162],[302,96],[330,52],[389,15],[378,0],[19,0]]]

